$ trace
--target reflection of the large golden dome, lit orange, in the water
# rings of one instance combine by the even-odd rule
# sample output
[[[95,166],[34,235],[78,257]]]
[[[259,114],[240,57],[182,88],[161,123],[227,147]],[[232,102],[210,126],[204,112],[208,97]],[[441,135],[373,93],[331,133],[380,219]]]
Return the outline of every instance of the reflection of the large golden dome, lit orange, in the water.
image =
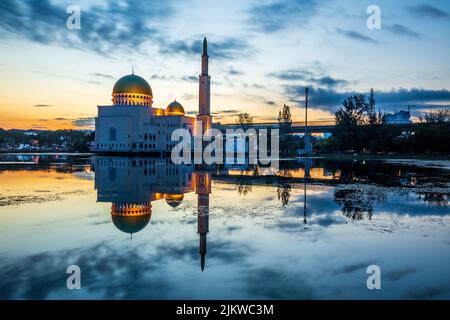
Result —
[[[151,208],[150,203],[113,203],[112,221],[120,231],[133,234],[141,231],[148,224],[152,213]]]

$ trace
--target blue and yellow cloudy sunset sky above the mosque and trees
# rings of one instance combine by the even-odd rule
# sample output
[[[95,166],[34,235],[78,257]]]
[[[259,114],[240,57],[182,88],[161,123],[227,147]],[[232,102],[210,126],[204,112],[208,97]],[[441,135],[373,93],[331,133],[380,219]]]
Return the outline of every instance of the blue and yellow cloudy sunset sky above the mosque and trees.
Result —
[[[69,5],[80,29],[66,26]],[[154,107],[177,99],[195,115],[203,37],[213,121],[275,121],[283,104],[302,121],[305,87],[316,121],[371,88],[386,112],[450,107],[450,1],[2,0],[0,128],[92,129],[132,67]]]

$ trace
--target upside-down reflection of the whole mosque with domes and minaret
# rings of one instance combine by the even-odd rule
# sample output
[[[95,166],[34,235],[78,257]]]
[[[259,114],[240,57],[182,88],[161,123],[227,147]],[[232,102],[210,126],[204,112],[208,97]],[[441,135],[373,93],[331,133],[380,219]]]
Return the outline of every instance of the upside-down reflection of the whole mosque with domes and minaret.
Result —
[[[184,194],[198,197],[197,232],[201,269],[205,267],[211,175],[193,166],[174,165],[167,159],[98,157],[94,160],[95,188],[99,202],[111,202],[117,229],[130,236],[144,229],[152,214],[152,201],[165,200],[173,208]]]

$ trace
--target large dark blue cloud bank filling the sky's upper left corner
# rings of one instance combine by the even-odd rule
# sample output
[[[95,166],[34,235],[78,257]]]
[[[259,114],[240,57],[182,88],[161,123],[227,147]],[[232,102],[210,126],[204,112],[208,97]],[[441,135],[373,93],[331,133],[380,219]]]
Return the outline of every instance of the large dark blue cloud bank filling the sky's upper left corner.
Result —
[[[124,50],[119,48],[135,51],[144,44],[158,43],[164,22],[174,13],[170,1],[157,0],[105,2],[81,10],[81,30],[68,30],[68,14],[62,4],[4,0],[0,3],[0,30],[33,42],[108,55]]]

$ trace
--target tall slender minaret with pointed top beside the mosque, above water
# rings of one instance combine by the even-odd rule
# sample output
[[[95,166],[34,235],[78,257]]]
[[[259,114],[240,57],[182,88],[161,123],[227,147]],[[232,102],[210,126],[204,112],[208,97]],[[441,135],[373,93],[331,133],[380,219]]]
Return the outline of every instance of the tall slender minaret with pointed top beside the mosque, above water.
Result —
[[[202,122],[202,134],[211,128],[211,94],[210,81],[208,74],[208,42],[203,39],[202,52],[202,73],[199,76],[199,96],[198,96],[198,115],[197,120]]]

